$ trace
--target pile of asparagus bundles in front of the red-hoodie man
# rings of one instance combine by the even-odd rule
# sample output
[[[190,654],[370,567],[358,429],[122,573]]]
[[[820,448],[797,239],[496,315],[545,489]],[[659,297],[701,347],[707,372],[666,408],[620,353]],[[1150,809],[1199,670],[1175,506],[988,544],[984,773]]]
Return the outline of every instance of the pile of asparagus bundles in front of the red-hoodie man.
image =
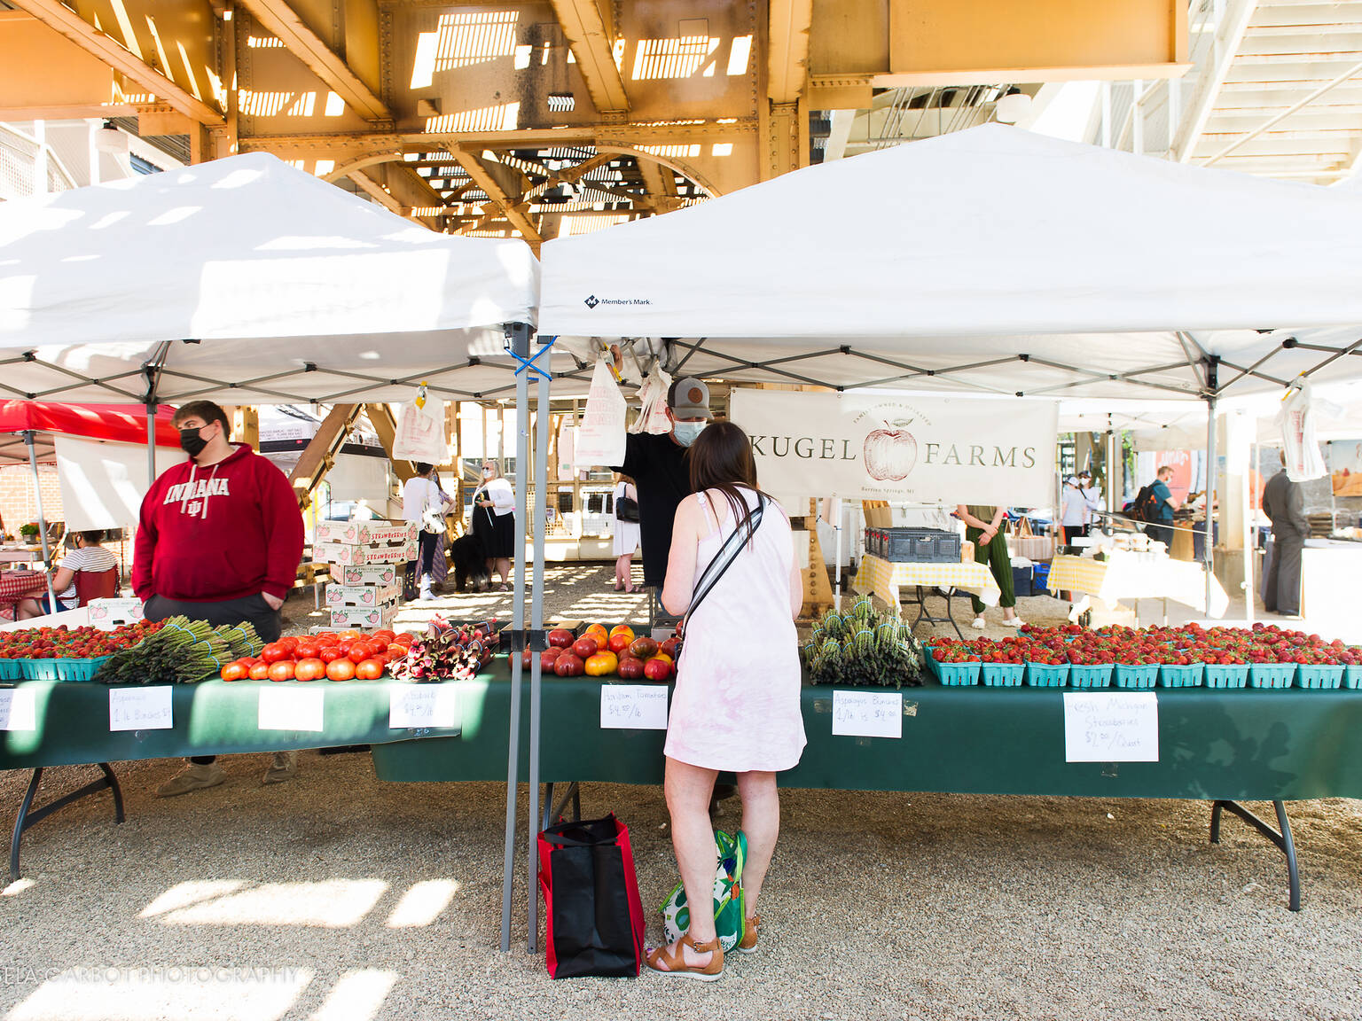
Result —
[[[105,663],[95,681],[106,685],[193,685],[217,677],[223,663],[255,656],[264,643],[249,622],[212,628],[172,617],[131,649]]]

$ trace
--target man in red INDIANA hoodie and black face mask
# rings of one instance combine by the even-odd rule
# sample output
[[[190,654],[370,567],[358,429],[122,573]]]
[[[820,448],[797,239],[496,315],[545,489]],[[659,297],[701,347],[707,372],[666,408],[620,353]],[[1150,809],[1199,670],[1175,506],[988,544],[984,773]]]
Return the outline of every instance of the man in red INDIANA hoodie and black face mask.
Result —
[[[183,614],[221,623],[249,621],[266,641],[279,637],[279,607],[302,560],[302,516],[289,479],[251,449],[233,444],[226,412],[195,400],[174,415],[189,455],[158,478],[142,501],[132,588],[148,621]],[[162,798],[226,779],[212,756],[157,791]],[[297,753],[275,753],[266,783],[287,780]]]

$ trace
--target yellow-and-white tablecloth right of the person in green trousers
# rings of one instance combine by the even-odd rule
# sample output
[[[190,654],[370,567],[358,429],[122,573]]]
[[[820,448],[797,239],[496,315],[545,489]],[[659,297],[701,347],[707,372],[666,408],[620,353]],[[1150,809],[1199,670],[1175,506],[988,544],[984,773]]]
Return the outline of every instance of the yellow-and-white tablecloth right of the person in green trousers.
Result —
[[[1190,561],[1162,557],[1147,560],[1113,550],[1106,561],[1091,557],[1056,557],[1050,561],[1051,592],[1087,592],[1105,603],[1121,599],[1171,599],[1193,610],[1223,617],[1230,599],[1218,579],[1211,579],[1211,607],[1205,606],[1205,568]]]

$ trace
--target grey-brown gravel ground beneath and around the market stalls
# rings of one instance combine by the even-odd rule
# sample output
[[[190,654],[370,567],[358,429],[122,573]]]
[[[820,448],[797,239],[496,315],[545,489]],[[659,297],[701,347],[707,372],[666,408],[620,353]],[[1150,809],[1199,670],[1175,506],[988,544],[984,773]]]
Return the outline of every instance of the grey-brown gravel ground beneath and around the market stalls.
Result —
[[[640,598],[609,577],[553,568],[549,603],[637,617]],[[381,783],[368,756],[305,751],[293,781],[260,787],[267,762],[225,758],[226,784],[169,800],[154,790],[177,762],[124,764],[124,825],[104,795],[41,822],[25,879],[0,894],[0,1017],[1362,1017],[1354,800],[1291,806],[1305,896],[1291,913],[1280,855],[1230,818],[1208,844],[1205,803],[789,791],[759,953],[711,986],[552,983],[524,953],[523,867],[516,949],[497,950],[501,785]],[[87,773],[53,769],[45,787]],[[25,779],[0,775],[0,803]],[[628,822],[658,941],[676,882],[661,792],[591,785],[583,810]]]

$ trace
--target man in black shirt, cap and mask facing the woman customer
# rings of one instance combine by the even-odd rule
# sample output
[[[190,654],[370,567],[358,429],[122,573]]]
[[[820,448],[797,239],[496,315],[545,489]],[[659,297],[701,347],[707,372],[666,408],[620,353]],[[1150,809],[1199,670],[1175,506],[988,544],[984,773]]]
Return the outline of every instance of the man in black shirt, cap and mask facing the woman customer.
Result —
[[[691,496],[686,449],[710,422],[710,388],[696,378],[676,380],[667,389],[670,433],[629,433],[624,464],[614,470],[633,479],[639,494],[639,540],[643,584],[661,591],[667,577],[671,523]]]

